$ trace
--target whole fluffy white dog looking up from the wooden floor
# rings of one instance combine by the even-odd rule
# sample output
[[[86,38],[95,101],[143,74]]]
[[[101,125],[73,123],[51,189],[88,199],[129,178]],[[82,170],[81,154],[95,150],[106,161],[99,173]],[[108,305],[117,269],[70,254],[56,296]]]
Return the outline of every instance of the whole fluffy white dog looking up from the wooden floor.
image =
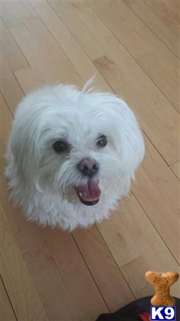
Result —
[[[19,104],[6,177],[29,220],[73,230],[107,218],[144,156],[134,114],[119,97],[47,86]]]

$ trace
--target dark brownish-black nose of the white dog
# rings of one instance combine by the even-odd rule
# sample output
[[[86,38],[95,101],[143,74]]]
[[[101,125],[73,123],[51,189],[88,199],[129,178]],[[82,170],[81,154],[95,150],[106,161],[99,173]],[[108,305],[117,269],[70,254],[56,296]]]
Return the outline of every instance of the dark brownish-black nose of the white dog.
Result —
[[[80,163],[78,163],[78,170],[90,178],[94,176],[98,170],[99,170],[99,165],[95,159],[92,158],[84,158]]]

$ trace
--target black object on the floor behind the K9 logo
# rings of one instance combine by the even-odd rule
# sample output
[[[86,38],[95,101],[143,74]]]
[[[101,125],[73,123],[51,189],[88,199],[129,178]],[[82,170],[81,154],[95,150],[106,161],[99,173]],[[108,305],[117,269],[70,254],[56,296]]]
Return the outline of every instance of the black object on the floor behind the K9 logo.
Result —
[[[151,298],[152,297],[142,297],[114,313],[100,315],[96,321],[140,321],[141,319],[137,315],[142,312],[149,312]],[[180,321],[180,299],[175,299],[176,321]]]

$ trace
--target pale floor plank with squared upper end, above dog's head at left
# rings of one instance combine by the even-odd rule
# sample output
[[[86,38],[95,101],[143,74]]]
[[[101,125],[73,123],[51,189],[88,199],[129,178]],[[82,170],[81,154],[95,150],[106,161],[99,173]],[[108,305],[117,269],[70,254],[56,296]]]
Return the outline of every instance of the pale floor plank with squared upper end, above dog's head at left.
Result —
[[[26,56],[31,68],[46,83],[83,81],[40,19],[11,27],[11,34]],[[36,34],[36,37],[33,35]]]

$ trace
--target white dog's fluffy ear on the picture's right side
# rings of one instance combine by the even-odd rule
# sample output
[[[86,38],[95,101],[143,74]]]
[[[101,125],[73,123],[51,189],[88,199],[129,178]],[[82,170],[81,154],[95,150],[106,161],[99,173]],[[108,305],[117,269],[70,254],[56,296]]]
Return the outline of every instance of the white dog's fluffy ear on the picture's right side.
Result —
[[[98,117],[97,126],[110,136],[122,168],[133,177],[144,157],[144,139],[134,113],[125,101],[112,93],[92,93],[90,101],[95,107],[93,113]]]

